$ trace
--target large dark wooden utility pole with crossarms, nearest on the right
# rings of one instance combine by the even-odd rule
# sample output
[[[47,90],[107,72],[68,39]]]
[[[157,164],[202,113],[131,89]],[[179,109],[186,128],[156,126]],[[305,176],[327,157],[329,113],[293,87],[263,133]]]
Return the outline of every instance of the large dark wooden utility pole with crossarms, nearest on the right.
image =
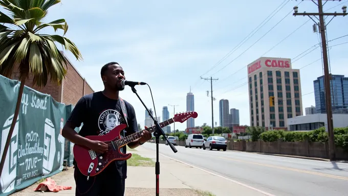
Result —
[[[334,1],[334,0],[333,0]],[[312,1],[315,3],[314,1]],[[326,1],[324,5],[327,3]],[[335,139],[334,139],[334,126],[332,120],[332,105],[331,105],[331,90],[330,90],[330,74],[329,74],[329,61],[328,61],[328,48],[327,48],[327,38],[325,34],[326,26],[331,22],[331,20],[336,16],[345,16],[347,15],[347,7],[343,6],[343,13],[324,13],[322,11],[322,0],[318,0],[318,3],[315,3],[318,6],[318,13],[298,13],[298,7],[294,7],[294,16],[309,16],[315,23],[317,23],[311,16],[319,16],[319,29],[321,35],[321,44],[322,44],[322,59],[324,65],[324,87],[325,87],[325,101],[326,101],[326,110],[328,117],[328,133],[329,133],[329,157],[333,161],[336,159],[335,152]],[[332,19],[325,25],[324,16],[333,16]],[[317,18],[317,17],[316,17]],[[318,18],[317,18],[318,19]]]

